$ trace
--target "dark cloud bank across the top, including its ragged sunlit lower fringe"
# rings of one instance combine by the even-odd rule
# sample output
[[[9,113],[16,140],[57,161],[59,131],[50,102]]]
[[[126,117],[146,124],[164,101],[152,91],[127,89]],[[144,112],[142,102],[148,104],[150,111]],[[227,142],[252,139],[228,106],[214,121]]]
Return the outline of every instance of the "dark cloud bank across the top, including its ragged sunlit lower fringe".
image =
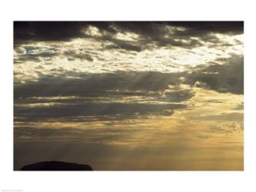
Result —
[[[15,45],[26,41],[70,41],[72,38],[95,38],[111,41],[114,45],[106,48],[122,48],[141,51],[154,43],[157,46],[179,46],[191,48],[202,45],[202,41],[219,43],[213,33],[237,35],[243,33],[243,22],[15,22]],[[86,28],[95,26],[101,38],[85,34]],[[170,36],[168,26],[173,29]],[[131,43],[113,38],[118,32],[132,32],[139,35],[138,41]],[[168,35],[168,37],[166,37]],[[198,38],[197,40],[193,38]]]

